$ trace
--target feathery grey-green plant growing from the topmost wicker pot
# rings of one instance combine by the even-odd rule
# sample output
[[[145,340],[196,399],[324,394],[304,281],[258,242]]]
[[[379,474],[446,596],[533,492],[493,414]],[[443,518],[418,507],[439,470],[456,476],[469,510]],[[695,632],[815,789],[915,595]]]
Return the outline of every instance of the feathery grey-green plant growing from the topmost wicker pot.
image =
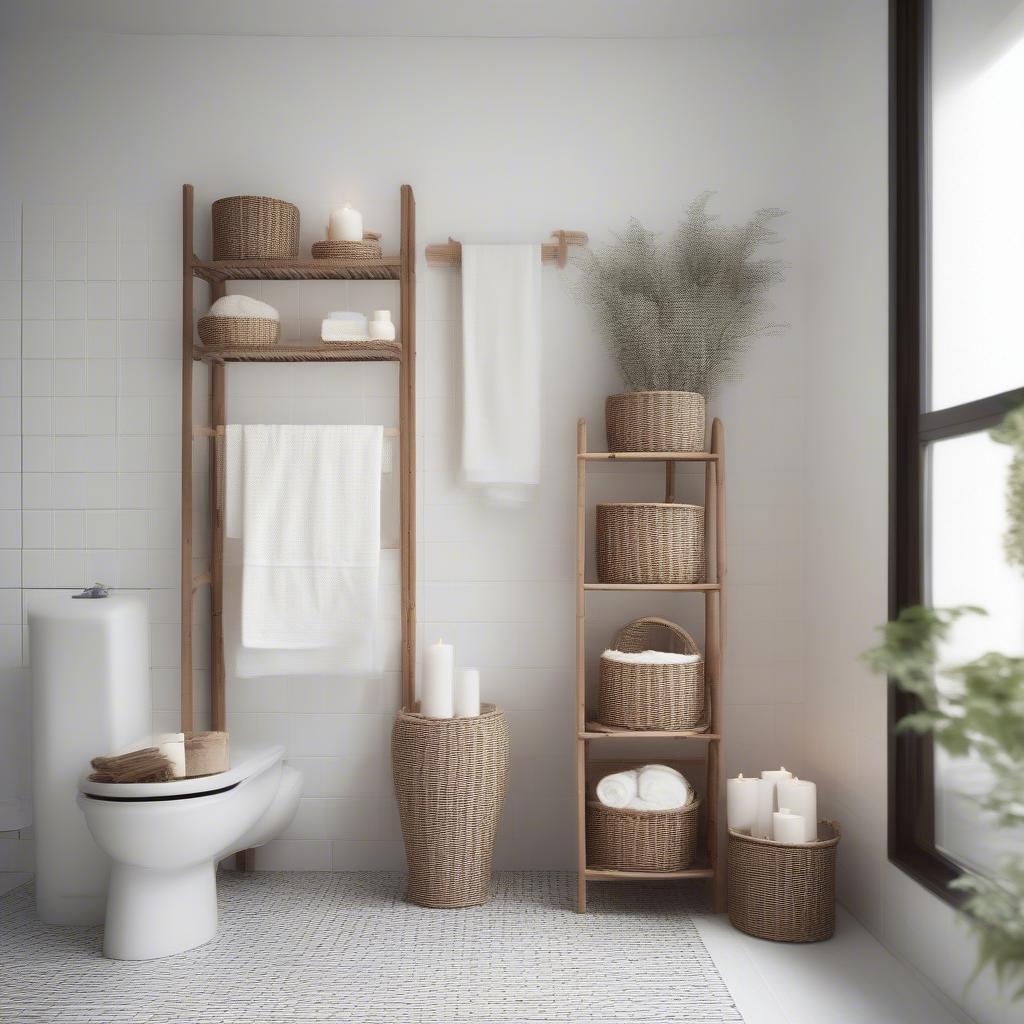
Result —
[[[782,210],[758,210],[726,226],[708,212],[714,194],[689,206],[664,248],[638,221],[603,253],[578,258],[581,296],[633,391],[696,391],[710,398],[738,375],[755,337],[778,330],[765,321],[767,294],[783,280],[780,260],[759,258],[778,241]]]

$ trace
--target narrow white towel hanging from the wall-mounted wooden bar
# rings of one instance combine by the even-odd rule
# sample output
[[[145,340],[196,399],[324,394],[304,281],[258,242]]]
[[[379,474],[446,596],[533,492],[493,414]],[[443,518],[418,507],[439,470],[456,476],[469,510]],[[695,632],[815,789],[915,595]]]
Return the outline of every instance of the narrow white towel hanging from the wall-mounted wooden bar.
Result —
[[[467,483],[522,504],[541,480],[541,247],[462,247]]]

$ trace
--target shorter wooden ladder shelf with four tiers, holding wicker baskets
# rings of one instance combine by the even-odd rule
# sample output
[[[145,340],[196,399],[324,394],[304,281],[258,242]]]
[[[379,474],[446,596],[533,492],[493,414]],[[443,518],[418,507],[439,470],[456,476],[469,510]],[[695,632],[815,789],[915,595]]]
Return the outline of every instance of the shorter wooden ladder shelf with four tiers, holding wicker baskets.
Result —
[[[722,791],[722,649],[724,646],[725,559],[725,435],[721,421],[711,428],[710,452],[590,452],[587,449],[587,421],[577,426],[577,679],[575,679],[575,763],[577,763],[577,909],[587,910],[589,882],[634,882],[665,880],[708,880],[716,912],[725,908],[725,869],[720,838]],[[625,584],[587,583],[587,467],[593,462],[665,463],[665,500],[676,501],[675,467],[681,462],[705,464],[705,546],[709,554],[708,581],[701,584]],[[705,606],[705,686],[708,726],[705,731],[637,731],[615,729],[592,721],[587,715],[587,596],[601,591],[637,591],[695,593],[703,596]],[[696,863],[684,871],[620,871],[587,863],[587,791],[588,768],[594,765],[614,770],[629,762],[591,761],[591,746],[602,750],[625,740],[646,739],[686,744],[699,743],[699,758],[673,761],[677,767],[690,765],[702,769],[706,777],[700,837],[703,849]],[[660,759],[659,759],[660,760]]]

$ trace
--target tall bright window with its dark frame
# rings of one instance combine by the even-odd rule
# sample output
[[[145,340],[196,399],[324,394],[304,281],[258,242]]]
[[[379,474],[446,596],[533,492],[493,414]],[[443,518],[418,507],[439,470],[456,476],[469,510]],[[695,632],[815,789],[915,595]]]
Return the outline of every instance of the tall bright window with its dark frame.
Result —
[[[891,612],[978,604],[944,659],[1024,653],[1024,581],[1002,556],[1009,449],[1024,401],[1024,0],[891,0]],[[891,694],[894,724],[911,710]],[[950,898],[1020,837],[972,794],[982,766],[890,741],[891,858]]]

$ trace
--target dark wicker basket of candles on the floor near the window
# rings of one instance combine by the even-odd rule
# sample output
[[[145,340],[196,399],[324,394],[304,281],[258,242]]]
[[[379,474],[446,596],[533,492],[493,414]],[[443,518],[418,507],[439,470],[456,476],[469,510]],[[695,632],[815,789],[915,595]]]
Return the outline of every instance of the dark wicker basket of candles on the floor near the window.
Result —
[[[799,846],[729,833],[729,921],[759,939],[820,942],[836,930],[835,821]]]

